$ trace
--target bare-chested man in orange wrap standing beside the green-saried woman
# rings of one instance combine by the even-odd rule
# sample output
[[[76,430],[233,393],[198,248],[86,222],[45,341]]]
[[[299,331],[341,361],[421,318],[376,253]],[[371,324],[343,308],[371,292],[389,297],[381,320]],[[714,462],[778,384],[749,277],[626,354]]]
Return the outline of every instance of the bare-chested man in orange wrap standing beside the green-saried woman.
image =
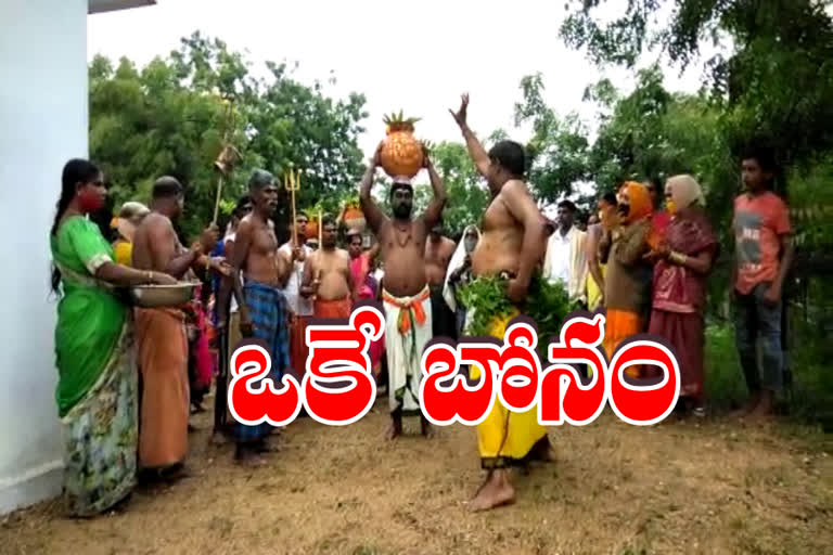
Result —
[[[182,212],[183,189],[163,177],[153,185],[151,212],[133,235],[132,264],[139,270],[164,272],[180,280],[190,269],[206,267],[225,272],[219,260],[208,258],[219,232],[212,227],[200,246],[185,249],[172,219]],[[189,380],[184,313],[179,308],[136,309],[136,336],[142,373],[139,463],[145,474],[176,476],[188,453]]]

